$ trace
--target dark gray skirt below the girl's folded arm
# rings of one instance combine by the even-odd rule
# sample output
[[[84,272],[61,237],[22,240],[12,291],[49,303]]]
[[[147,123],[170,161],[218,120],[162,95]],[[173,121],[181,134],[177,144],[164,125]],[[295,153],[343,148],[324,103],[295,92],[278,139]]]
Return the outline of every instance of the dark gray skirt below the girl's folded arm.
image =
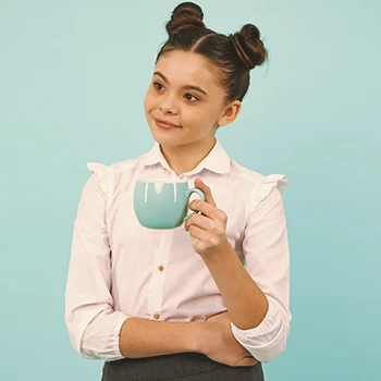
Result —
[[[101,381],[263,381],[262,365],[231,367],[208,356],[185,352],[106,361]]]

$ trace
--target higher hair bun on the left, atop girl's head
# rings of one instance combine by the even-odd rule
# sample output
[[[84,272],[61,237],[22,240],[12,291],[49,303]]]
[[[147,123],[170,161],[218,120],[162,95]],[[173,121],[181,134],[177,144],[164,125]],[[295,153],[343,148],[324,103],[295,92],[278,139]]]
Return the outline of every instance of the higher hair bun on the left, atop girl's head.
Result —
[[[204,13],[199,5],[194,2],[182,2],[172,12],[171,20],[167,23],[165,29],[170,37],[180,32],[194,28],[205,28],[202,22]]]

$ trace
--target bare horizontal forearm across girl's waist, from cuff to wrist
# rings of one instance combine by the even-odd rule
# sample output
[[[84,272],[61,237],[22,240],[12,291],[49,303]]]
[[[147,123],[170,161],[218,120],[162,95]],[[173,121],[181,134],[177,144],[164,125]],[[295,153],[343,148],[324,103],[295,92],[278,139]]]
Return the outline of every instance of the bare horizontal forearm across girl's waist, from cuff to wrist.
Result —
[[[120,332],[124,357],[138,358],[182,352],[200,352],[202,322],[169,322],[128,318]]]

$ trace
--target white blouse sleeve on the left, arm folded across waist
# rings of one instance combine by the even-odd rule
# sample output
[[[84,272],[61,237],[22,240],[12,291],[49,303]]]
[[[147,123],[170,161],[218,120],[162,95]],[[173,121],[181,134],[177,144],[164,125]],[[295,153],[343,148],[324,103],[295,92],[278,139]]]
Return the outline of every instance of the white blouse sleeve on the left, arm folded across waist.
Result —
[[[74,222],[65,290],[65,323],[74,349],[88,359],[123,358],[119,334],[128,316],[114,311],[106,223],[107,167],[90,164]]]

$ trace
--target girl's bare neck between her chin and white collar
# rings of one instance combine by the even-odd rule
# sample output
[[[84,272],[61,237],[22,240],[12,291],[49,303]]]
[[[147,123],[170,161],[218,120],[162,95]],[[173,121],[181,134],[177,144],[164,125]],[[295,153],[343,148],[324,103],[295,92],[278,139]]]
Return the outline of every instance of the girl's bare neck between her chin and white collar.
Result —
[[[160,145],[161,152],[171,169],[179,176],[193,171],[212,150],[216,138],[192,145],[164,146]]]

